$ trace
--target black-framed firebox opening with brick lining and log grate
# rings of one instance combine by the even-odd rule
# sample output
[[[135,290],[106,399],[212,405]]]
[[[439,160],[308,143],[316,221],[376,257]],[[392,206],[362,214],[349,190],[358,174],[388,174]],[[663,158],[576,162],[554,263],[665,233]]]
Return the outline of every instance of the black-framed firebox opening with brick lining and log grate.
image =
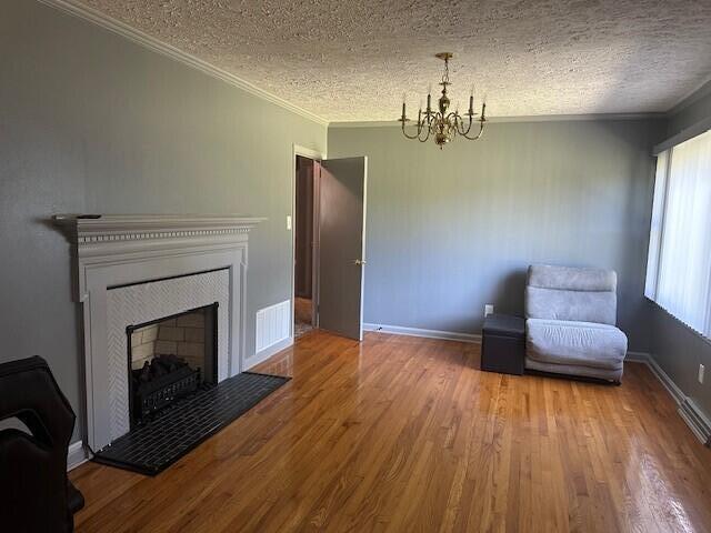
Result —
[[[217,384],[218,306],[214,302],[127,326],[131,428]]]

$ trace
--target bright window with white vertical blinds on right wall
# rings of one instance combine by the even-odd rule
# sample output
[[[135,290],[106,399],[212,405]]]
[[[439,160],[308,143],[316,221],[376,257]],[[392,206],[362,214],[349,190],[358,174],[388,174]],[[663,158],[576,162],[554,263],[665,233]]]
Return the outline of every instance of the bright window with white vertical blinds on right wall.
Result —
[[[658,155],[644,294],[711,338],[711,130]]]

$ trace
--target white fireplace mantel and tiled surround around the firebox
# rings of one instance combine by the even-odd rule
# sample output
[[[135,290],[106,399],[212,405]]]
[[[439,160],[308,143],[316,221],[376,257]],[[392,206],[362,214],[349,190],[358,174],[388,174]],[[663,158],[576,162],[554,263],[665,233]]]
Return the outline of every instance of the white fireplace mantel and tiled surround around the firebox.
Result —
[[[127,326],[218,303],[218,381],[244,355],[248,232],[240,217],[57,217],[69,231],[83,303],[87,440],[130,429]]]

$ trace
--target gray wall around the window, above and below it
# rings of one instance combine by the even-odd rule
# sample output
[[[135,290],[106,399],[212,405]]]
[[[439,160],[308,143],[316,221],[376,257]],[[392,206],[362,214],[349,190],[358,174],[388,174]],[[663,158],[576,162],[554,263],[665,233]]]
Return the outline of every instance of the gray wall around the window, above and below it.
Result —
[[[665,137],[679,133],[695,122],[711,117],[711,82],[692,94],[670,118]],[[664,137],[664,135],[662,135]],[[663,139],[659,139],[662,141]],[[695,333],[650,302],[651,346],[657,363],[711,419],[711,374],[705,383],[698,380],[699,364],[711,370],[711,341]]]

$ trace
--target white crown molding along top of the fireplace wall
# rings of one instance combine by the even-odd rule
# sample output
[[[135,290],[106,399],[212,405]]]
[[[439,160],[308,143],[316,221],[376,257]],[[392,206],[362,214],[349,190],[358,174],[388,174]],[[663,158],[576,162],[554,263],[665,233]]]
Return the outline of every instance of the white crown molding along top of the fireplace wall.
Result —
[[[249,81],[246,81],[223,69],[220,69],[219,67],[210,64],[202,59],[199,59],[171,44],[156,39],[154,37],[151,37],[148,33],[142,32],[141,30],[131,28],[120,20],[117,20],[113,17],[109,17],[108,14],[102,13],[97,9],[90,8],[88,6],[82,6],[74,0],[38,0],[38,2],[54,8],[70,16],[78,17],[93,24],[100,26],[101,28],[117,33],[143,48],[147,48],[153,52],[158,52],[162,56],[167,56],[171,59],[174,59],[176,61],[180,61],[181,63],[190,68],[200,70],[206,74],[222,80],[233,87],[237,87],[238,89],[243,90],[244,92],[261,98],[262,100],[274,103],[288,111],[291,111],[292,113],[299,114],[321,125],[329,125],[329,121],[323,117],[312,113],[311,111],[307,111],[306,109],[300,108],[299,105],[296,105],[280,97],[277,97],[271,92],[264,91],[263,89],[260,89]]]

